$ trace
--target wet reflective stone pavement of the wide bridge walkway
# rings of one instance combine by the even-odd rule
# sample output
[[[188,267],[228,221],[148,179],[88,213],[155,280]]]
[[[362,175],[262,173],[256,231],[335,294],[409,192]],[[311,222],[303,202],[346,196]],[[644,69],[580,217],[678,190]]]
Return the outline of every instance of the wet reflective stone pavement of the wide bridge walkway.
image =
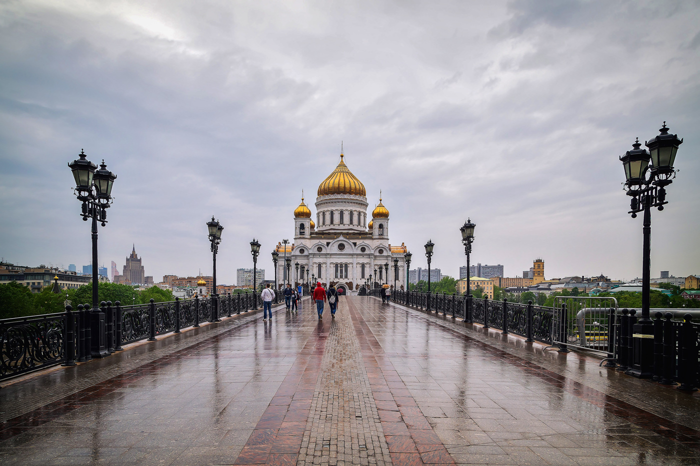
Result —
[[[372,297],[0,389],[2,465],[698,465],[700,396]]]

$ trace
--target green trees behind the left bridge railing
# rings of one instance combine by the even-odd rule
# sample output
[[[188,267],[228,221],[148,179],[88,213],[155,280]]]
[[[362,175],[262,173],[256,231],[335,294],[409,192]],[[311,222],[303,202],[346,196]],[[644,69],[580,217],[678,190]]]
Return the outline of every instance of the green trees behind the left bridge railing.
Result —
[[[77,309],[78,304],[92,305],[92,283],[80,288],[61,290],[59,294],[51,292],[51,287],[44,288],[40,293],[33,293],[29,287],[10,281],[0,285],[0,319],[13,317],[37,316],[65,311],[64,302],[68,299]],[[155,302],[174,301],[171,290],[161,290],[152,286],[148,290],[139,291],[131,285],[117,283],[99,283],[97,286],[97,301],[113,303],[119,301],[122,306],[146,304],[153,299]]]

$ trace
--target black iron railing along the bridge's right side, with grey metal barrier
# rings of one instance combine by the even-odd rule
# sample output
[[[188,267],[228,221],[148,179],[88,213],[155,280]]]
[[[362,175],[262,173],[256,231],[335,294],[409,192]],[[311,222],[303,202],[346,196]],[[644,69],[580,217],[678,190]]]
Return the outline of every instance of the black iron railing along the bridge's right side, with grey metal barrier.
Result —
[[[381,289],[369,295],[381,296]],[[629,372],[633,365],[633,325],[636,309],[618,309],[613,297],[555,297],[554,306],[519,304],[455,294],[393,290],[391,299],[416,309],[478,323],[526,341],[540,341],[559,351],[575,348],[603,355],[608,367]],[[673,312],[671,312],[673,311]],[[682,309],[655,312],[655,381],[680,384],[682,390],[700,387],[700,313]],[[679,320],[675,317],[682,317]],[[602,362],[601,362],[602,364]]]

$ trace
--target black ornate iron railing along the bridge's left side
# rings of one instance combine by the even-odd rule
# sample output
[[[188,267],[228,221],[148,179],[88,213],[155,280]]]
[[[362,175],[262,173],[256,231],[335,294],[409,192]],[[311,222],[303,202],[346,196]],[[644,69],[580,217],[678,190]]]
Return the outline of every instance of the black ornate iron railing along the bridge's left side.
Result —
[[[275,292],[274,302],[279,302]],[[80,304],[76,311],[42,316],[0,320],[0,380],[27,374],[53,365],[74,365],[92,359],[92,339],[106,346],[109,353],[121,351],[122,345],[158,335],[179,333],[186,327],[218,321],[219,317],[248,312],[262,306],[260,292],[179,299],[122,306],[120,302],[102,302],[105,332],[93,334],[89,304]]]

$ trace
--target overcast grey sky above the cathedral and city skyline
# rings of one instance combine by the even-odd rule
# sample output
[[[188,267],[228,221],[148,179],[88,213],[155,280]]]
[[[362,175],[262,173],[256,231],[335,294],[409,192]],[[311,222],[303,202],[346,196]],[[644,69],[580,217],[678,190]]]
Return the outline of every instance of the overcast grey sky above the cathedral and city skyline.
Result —
[[[700,274],[698,1],[0,3],[0,255],[90,262],[67,163],[118,176],[99,262],[272,279],[302,189],[339,160],[391,212],[412,266],[641,276],[618,157],[666,120],[685,138],[652,211],[652,277]]]

